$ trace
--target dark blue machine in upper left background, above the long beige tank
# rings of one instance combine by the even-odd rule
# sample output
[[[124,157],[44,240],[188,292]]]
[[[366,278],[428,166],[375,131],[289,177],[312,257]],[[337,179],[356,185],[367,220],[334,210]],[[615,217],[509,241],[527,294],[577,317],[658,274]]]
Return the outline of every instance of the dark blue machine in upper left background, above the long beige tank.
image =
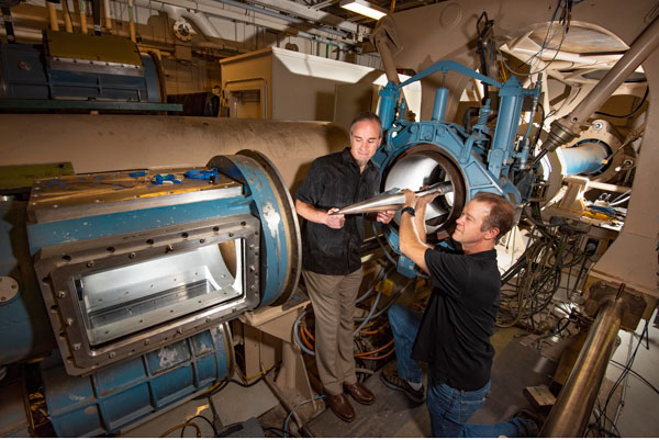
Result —
[[[47,30],[43,45],[0,44],[0,108],[180,111],[158,70],[127,38]]]

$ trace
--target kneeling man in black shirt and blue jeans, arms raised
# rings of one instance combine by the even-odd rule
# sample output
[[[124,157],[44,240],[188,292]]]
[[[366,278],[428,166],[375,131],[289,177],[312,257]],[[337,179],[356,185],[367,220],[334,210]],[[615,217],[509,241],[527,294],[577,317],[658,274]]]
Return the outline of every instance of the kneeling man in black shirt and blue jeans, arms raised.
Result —
[[[537,426],[523,418],[467,424],[490,391],[494,357],[490,337],[501,294],[494,245],[512,227],[513,207],[500,195],[476,194],[456,221],[451,236],[461,250],[450,252],[426,244],[426,205],[435,196],[416,198],[405,190],[401,251],[429,273],[433,293],[423,316],[400,305],[390,308],[398,373],[386,369],[382,381],[421,404],[424,392],[418,361],[428,364],[426,404],[433,437],[535,437]]]

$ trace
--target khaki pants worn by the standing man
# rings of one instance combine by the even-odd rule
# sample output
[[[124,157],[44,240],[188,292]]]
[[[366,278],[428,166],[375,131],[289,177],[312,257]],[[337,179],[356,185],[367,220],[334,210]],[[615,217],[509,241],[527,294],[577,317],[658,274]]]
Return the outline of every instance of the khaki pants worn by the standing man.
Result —
[[[347,275],[324,275],[303,270],[315,315],[315,358],[325,392],[343,393],[343,384],[357,382],[354,358],[355,300],[361,268]]]

